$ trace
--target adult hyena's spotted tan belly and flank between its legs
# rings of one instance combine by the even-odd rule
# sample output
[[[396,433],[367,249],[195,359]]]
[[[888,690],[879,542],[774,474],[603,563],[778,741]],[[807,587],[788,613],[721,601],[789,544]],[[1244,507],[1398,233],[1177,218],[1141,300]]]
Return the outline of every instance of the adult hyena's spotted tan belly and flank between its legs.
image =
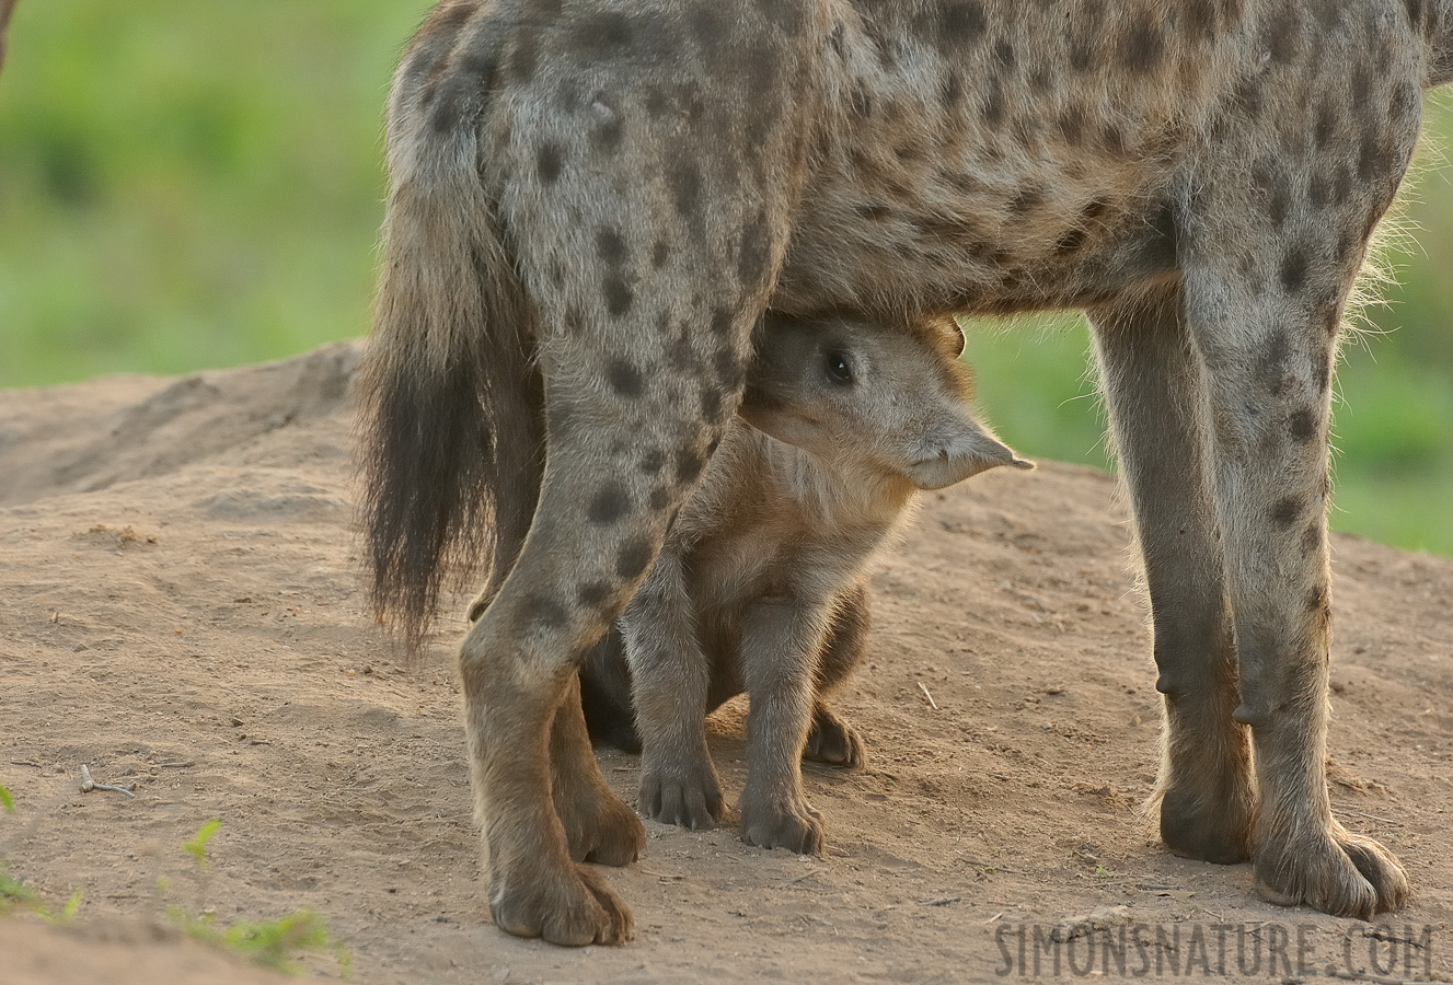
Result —
[[[1212,115],[1229,67],[1255,65],[1254,39],[1171,52],[1154,41],[1170,15],[1141,7],[982,7],[987,20],[950,4],[844,19],[774,308],[1068,308],[1174,273],[1187,121]]]

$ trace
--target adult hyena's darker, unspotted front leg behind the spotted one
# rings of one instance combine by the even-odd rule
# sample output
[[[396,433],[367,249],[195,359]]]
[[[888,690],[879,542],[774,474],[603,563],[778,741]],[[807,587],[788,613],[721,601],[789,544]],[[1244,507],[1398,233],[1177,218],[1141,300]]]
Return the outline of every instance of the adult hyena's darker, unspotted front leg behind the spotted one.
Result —
[[[1161,838],[1206,862],[1251,856],[1251,742],[1232,719],[1237,649],[1206,471],[1200,368],[1184,298],[1164,288],[1091,312],[1120,471],[1135,507],[1164,697]]]

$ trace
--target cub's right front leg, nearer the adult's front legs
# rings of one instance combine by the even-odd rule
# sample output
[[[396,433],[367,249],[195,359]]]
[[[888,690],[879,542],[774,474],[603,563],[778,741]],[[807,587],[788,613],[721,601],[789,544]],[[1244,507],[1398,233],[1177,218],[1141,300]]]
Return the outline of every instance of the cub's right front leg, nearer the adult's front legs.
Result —
[[[802,750],[812,725],[825,604],[773,597],[753,603],[741,636],[747,713],[742,837],[763,848],[822,854],[822,815],[802,792]]]

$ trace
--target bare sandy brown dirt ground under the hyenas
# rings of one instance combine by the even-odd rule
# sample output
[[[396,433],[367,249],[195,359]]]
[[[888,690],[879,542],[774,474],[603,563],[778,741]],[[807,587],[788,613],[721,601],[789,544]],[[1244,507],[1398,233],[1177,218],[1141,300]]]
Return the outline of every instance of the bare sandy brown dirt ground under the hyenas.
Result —
[[[83,891],[67,925],[0,920],[0,981],[275,981],[186,940],[169,907],[219,924],[312,908],[356,981],[411,985],[972,982],[1053,960],[1453,978],[1453,561],[1332,540],[1332,802],[1415,896],[1386,925],[1283,909],[1247,866],[1175,859],[1139,816],[1159,702],[1126,510],[1110,478],[1053,463],[930,495],[876,572],[872,662],[841,702],[869,761],[806,769],[825,857],[647,822],[647,854],[609,872],[635,943],[507,937],[469,821],[465,600],[417,665],[363,610],[356,359],[0,394],[0,859],[52,909]],[[734,796],[740,705],[712,748]],[[635,758],[600,758],[632,800]],[[83,763],[135,799],[81,793]],[[203,870],[180,846],[209,818]]]

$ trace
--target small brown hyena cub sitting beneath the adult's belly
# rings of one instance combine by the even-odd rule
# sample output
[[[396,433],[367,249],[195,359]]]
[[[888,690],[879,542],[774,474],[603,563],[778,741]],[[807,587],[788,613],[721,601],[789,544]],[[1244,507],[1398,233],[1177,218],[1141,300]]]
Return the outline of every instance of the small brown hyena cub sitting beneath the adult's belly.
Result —
[[[726,430],[581,671],[593,737],[641,750],[642,814],[690,828],[721,821],[705,718],[745,690],[742,834],[822,850],[801,758],[862,761],[862,739],[824,694],[863,654],[865,567],[918,490],[1030,468],[969,416],[962,349],[952,321],[767,317],[745,423]]]

